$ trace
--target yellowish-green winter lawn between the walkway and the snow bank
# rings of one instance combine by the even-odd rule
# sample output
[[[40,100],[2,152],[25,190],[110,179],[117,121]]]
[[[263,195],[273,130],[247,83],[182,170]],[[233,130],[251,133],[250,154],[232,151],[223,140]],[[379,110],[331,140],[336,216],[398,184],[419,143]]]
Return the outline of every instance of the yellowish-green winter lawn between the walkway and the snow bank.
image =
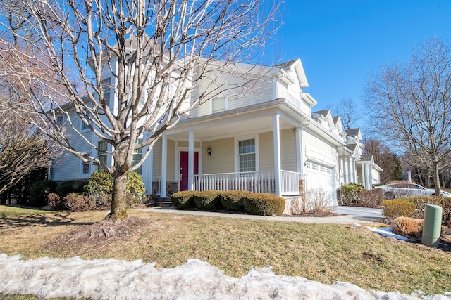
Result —
[[[159,214],[132,209],[132,221],[101,237],[106,211],[16,211],[0,206],[0,253],[157,262],[202,259],[231,276],[272,266],[326,284],[428,294],[451,292],[451,252],[381,237],[362,227]],[[91,238],[89,238],[91,237]]]

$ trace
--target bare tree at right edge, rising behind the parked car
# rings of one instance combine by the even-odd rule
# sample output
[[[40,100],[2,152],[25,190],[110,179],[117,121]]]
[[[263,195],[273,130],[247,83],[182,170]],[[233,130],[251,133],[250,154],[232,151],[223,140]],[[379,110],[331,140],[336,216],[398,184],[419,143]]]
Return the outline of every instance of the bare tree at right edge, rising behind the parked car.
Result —
[[[366,84],[372,126],[431,166],[435,190],[439,172],[451,151],[451,47],[432,38],[417,47],[404,65],[384,67]]]

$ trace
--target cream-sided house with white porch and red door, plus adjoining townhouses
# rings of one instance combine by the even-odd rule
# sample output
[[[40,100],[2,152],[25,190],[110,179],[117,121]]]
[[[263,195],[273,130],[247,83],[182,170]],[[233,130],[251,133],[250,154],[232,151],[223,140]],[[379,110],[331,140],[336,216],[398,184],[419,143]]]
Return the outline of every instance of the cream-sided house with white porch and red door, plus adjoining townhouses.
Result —
[[[240,64],[237,71],[248,67]],[[359,129],[344,131],[340,118],[329,110],[311,112],[316,100],[302,91],[308,84],[301,60],[261,68],[268,72],[247,89],[230,89],[237,81],[234,72],[199,82],[192,98],[212,86],[228,84],[229,89],[164,132],[138,170],[147,193],[164,197],[179,190],[244,189],[299,197],[321,188],[336,205],[336,190],[342,184],[363,182],[371,188],[381,169],[374,167],[372,157],[362,159]],[[111,86],[113,79],[105,75]],[[114,107],[112,92],[110,102]],[[99,145],[99,152],[92,150],[92,155],[111,164],[111,155],[106,154],[110,146],[94,141],[81,122],[79,126],[85,138]],[[81,138],[73,138],[76,149],[90,151]],[[142,152],[135,155],[138,160]],[[65,156],[54,165],[51,179],[87,178],[94,169]]]

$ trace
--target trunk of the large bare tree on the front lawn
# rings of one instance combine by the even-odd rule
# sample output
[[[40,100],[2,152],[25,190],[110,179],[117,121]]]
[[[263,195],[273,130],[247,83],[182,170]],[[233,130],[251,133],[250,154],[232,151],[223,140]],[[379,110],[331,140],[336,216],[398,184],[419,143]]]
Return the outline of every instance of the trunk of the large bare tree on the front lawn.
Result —
[[[113,193],[111,195],[111,211],[106,219],[123,220],[127,217],[127,175],[113,174]]]

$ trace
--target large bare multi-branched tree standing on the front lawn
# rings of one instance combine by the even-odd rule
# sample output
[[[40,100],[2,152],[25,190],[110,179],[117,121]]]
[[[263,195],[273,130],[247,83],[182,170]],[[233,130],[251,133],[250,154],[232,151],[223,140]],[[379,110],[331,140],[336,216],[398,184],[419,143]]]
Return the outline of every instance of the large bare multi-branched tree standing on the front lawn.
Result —
[[[258,77],[254,67],[247,65],[240,72],[235,65],[258,58],[254,50],[264,48],[277,12],[261,0],[23,0],[20,5],[9,12],[19,15],[16,20],[26,20],[27,31],[39,36],[30,45],[32,56],[3,43],[17,53],[13,75],[32,99],[21,109],[35,112],[39,129],[66,151],[109,171],[109,219],[126,216],[127,174],[142,165],[163,131],[183,113],[221,93],[218,89],[230,89],[227,84],[209,84],[193,93],[201,79],[214,83],[220,72],[230,72],[244,85]],[[26,18],[20,18],[24,14]],[[27,42],[25,35],[4,25],[20,42]],[[47,74],[30,65],[41,66]],[[106,73],[111,73],[109,82],[104,81]],[[115,105],[109,105],[110,90]],[[61,99],[67,99],[66,105]],[[73,125],[71,112],[110,145],[113,165],[71,145],[57,122],[63,115],[71,131],[85,138]],[[137,143],[137,138],[143,139]],[[87,138],[85,143],[98,147]],[[132,166],[133,152],[141,148],[142,159]]]

